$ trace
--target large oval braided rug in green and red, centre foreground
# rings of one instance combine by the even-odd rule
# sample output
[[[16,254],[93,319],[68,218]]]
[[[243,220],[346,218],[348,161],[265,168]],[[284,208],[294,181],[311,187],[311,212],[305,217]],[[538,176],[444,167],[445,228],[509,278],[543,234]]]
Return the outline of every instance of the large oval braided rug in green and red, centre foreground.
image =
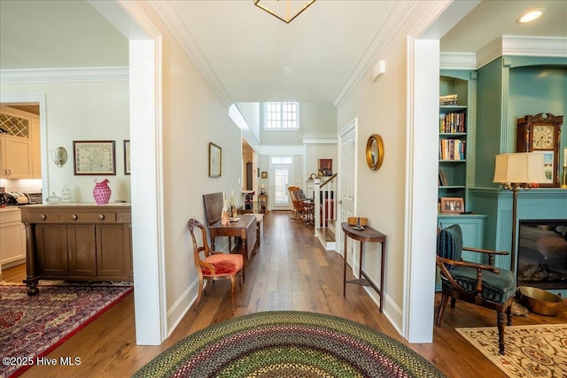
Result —
[[[443,377],[389,336],[314,312],[258,312],[176,343],[135,377]]]

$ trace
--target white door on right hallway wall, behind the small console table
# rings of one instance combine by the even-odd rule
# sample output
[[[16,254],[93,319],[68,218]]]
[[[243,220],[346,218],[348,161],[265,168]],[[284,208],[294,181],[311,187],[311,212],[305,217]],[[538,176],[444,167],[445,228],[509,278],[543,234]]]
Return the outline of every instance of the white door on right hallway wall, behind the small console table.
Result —
[[[356,129],[358,120],[352,120],[344,127],[339,135],[338,150],[338,228],[337,228],[337,248],[338,252],[345,257],[344,233],[340,229],[340,224],[347,221],[348,217],[356,214],[356,203],[354,195],[356,193]],[[348,239],[346,246],[346,262],[353,266],[353,240]]]

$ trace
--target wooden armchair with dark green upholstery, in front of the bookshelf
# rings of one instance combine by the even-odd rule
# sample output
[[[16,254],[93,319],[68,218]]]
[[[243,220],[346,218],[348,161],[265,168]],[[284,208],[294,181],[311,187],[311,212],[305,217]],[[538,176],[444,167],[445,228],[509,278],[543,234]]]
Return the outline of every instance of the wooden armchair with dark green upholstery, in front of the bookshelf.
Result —
[[[488,256],[489,265],[465,261],[462,251],[483,253]],[[449,226],[438,232],[437,259],[442,284],[442,297],[437,313],[437,326],[441,326],[443,313],[451,298],[454,308],[456,299],[496,310],[499,335],[499,351],[504,354],[504,312],[508,325],[512,325],[511,306],[516,295],[516,279],[509,270],[493,266],[494,255],[508,252],[487,251],[462,247],[462,231],[459,225]]]

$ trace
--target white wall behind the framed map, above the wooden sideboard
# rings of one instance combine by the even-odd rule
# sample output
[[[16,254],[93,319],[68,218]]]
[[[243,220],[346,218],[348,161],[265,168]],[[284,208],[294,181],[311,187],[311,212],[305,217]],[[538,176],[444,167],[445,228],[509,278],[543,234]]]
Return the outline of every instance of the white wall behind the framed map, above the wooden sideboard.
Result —
[[[29,79],[28,79],[29,80]],[[58,81],[57,78],[51,78]],[[2,83],[1,96],[39,95],[46,99],[45,124],[47,141],[42,141],[47,150],[42,150],[42,159],[48,161],[47,188],[42,188],[44,197],[51,192],[61,196],[67,185],[72,189],[74,201],[94,202],[92,189],[95,180],[108,179],[113,189],[111,201],[129,201],[130,179],[124,174],[123,140],[129,139],[128,78],[122,81],[67,81],[38,83]],[[115,141],[116,175],[76,176],[73,165],[73,141]],[[67,150],[67,163],[58,168],[50,158],[51,150],[63,146]]]

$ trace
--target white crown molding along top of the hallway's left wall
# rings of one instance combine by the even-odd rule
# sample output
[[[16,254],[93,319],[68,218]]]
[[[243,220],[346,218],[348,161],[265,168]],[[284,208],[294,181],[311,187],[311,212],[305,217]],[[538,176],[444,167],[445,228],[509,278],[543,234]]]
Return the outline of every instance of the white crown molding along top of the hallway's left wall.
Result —
[[[183,23],[174,3],[175,2],[169,0],[152,0],[150,2],[153,9],[158,12],[159,17],[163,19],[164,24],[167,25],[171,31],[171,34],[174,35],[177,42],[181,44],[183,50],[187,52],[189,58],[195,63],[214,92],[221,98],[222,103],[228,108],[231,104],[234,104],[234,101],[214,72],[213,66],[211,66],[205,54],[199,48],[195,37],[190,34],[189,29]]]

